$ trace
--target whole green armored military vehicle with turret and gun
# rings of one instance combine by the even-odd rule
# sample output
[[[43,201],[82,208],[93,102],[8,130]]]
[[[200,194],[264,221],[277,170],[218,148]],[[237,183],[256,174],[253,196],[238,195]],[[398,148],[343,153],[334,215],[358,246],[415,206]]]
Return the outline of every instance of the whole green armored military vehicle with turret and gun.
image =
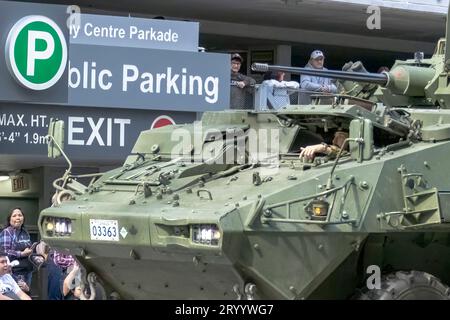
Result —
[[[379,87],[144,131],[122,167],[55,181],[41,237],[76,255],[97,298],[448,299],[444,47],[384,74],[254,66]],[[336,131],[333,156],[299,157]]]

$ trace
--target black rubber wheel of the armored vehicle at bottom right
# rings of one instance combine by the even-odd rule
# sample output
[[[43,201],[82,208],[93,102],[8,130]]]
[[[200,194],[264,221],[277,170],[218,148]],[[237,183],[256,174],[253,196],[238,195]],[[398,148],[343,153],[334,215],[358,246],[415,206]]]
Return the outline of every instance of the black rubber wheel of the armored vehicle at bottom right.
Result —
[[[421,271],[397,271],[381,277],[381,289],[365,289],[358,300],[450,300],[450,288]]]

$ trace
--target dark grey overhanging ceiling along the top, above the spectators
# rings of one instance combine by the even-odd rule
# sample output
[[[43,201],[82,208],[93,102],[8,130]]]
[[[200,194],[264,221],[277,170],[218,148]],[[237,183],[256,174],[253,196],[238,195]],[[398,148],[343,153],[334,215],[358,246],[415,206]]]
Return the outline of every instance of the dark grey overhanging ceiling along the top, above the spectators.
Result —
[[[444,35],[442,14],[381,9],[381,30],[366,28],[367,6],[324,0],[60,0],[81,7],[117,11],[134,16],[162,15],[192,20],[304,30],[340,32],[393,39],[434,42]]]

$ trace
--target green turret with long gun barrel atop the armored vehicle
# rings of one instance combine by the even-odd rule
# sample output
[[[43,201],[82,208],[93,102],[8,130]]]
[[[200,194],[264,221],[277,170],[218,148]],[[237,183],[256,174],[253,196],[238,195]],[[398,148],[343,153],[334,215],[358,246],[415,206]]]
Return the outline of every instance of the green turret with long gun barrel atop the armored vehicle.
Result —
[[[342,81],[372,83],[378,89],[368,95],[372,101],[381,101],[392,107],[439,107],[450,109],[450,6],[447,14],[446,37],[437,44],[434,55],[423,58],[396,61],[390,72],[363,73],[309,68],[287,67],[254,63],[252,70],[259,72],[284,71],[300,75],[312,75]],[[445,46],[445,49],[444,49]],[[345,86],[344,86],[345,87]],[[350,93],[352,95],[352,93]],[[367,99],[367,97],[363,97]]]

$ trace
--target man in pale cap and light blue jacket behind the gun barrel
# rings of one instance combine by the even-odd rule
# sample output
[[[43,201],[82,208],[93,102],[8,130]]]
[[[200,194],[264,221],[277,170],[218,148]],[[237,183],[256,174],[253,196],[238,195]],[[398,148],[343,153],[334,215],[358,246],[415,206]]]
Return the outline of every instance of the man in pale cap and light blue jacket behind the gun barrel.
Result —
[[[310,59],[306,64],[305,68],[309,69],[317,69],[317,70],[327,70],[323,66],[323,62],[325,60],[325,56],[323,52],[320,50],[314,50],[311,53]],[[331,82],[329,78],[323,78],[319,76],[306,76],[302,75],[300,78],[300,87],[303,90],[307,91],[316,91],[316,92],[324,92],[324,93],[336,93],[337,88]]]

